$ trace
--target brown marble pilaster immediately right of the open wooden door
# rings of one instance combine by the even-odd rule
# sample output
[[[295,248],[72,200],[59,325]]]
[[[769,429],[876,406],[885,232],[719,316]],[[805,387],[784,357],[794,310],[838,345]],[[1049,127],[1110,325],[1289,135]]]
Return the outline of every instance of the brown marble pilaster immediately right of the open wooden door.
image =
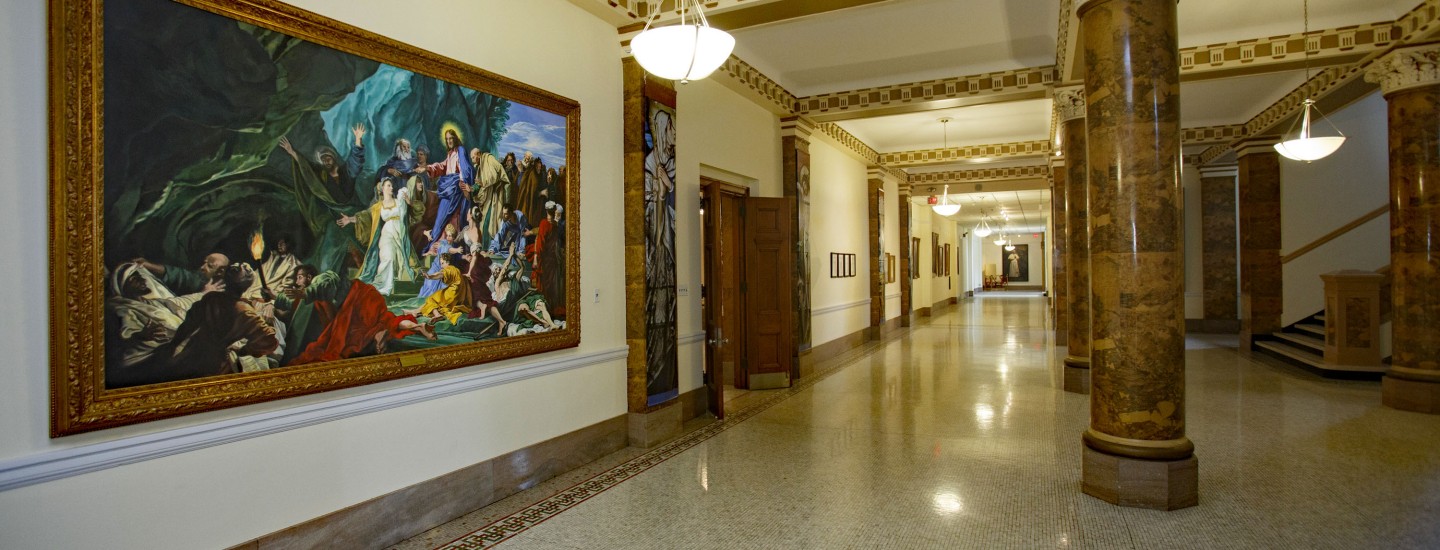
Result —
[[[812,369],[805,361],[802,370],[801,354],[806,354],[811,347],[811,262],[809,262],[809,137],[815,132],[815,121],[805,117],[780,118],[780,187],[786,197],[793,199],[795,210],[791,212],[791,235],[795,238],[795,295],[793,325],[795,351],[791,370],[791,380],[809,374],[804,370]]]

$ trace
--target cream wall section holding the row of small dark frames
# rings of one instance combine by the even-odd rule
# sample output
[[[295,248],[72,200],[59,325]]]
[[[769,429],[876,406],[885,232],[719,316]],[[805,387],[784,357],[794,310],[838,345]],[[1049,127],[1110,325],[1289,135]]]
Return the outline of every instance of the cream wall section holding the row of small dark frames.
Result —
[[[811,138],[811,347],[870,325],[867,164],[824,135]],[[829,253],[854,253],[855,276],[831,278]],[[838,310],[837,310],[838,308]]]

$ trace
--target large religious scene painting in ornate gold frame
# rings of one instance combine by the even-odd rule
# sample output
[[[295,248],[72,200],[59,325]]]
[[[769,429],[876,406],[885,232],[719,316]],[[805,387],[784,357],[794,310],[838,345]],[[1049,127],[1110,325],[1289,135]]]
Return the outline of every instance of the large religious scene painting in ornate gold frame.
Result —
[[[52,436],[577,346],[580,105],[271,0],[50,0]]]

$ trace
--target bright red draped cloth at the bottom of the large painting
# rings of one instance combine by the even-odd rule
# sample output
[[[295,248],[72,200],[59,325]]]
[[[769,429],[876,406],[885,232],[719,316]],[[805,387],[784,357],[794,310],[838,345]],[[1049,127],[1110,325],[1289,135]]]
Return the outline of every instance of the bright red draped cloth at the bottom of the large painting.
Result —
[[[403,338],[413,331],[400,330],[400,321],[415,321],[415,315],[392,314],[384,297],[361,281],[350,284],[350,294],[336,318],[320,333],[320,338],[305,346],[305,351],[288,364],[334,361],[354,357],[374,343],[376,333],[389,331],[390,338]]]

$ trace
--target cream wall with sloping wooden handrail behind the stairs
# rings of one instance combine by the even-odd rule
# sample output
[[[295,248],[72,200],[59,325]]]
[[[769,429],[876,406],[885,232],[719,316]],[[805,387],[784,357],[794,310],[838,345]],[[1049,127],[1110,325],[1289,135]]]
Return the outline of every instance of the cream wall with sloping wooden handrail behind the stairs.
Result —
[[[1331,121],[1348,137],[1339,151],[1310,164],[1280,160],[1282,255],[1388,203],[1387,117],[1385,99],[1378,91],[1372,92],[1329,114]],[[1282,324],[1289,325],[1325,308],[1320,274],[1339,269],[1374,271],[1388,263],[1388,213],[1284,263]]]

